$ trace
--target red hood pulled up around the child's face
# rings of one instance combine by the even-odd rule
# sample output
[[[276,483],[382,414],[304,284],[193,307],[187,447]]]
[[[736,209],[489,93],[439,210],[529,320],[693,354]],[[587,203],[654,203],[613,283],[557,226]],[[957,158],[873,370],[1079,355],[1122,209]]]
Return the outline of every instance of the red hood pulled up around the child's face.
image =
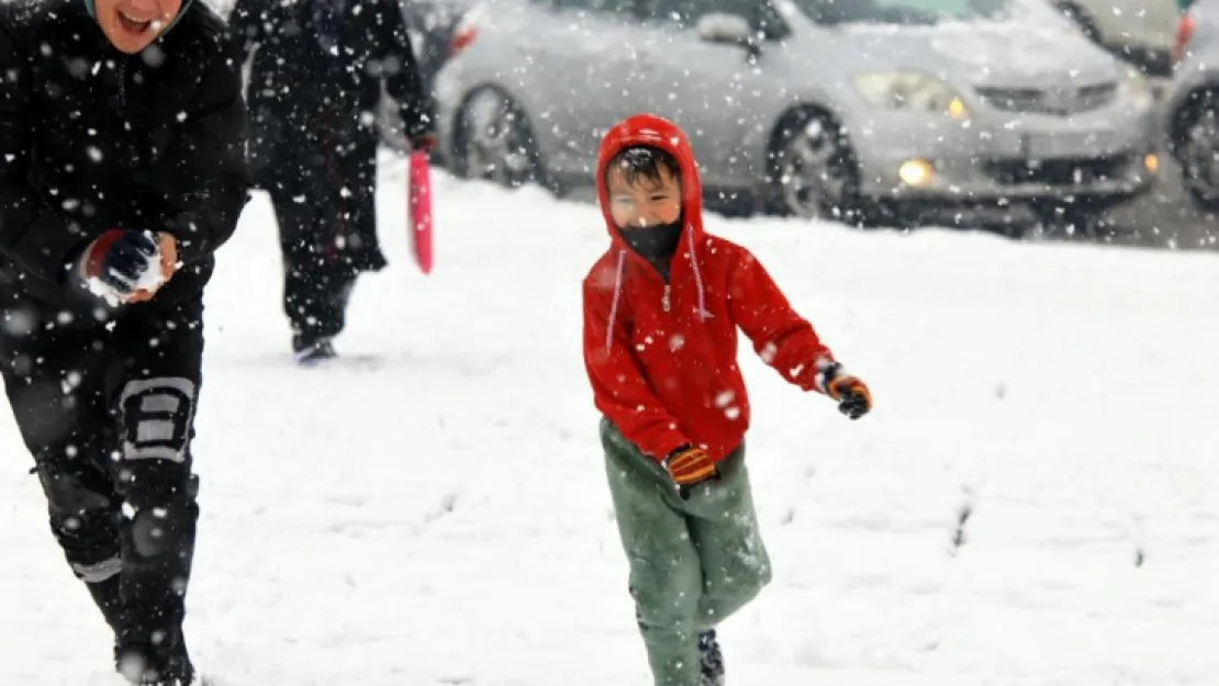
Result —
[[[601,150],[597,152],[597,201],[601,203],[601,214],[605,216],[610,238],[614,245],[627,249],[618,227],[610,216],[606,166],[614,155],[634,145],[659,147],[677,158],[681,171],[681,216],[685,219],[681,242],[685,244],[691,238],[694,239],[691,242],[698,242],[702,238],[702,182],[698,180],[698,168],[694,163],[694,151],[690,150],[690,141],[677,124],[655,115],[635,115],[623,119],[601,139]],[[694,232],[694,236],[688,236],[686,232]]]

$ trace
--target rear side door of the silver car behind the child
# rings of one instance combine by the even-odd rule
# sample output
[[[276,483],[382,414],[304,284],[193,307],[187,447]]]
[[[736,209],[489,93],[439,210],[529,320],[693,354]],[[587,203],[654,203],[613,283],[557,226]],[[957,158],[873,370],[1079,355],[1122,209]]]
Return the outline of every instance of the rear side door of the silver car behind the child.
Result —
[[[618,119],[646,108],[634,84],[638,0],[538,0],[545,30],[522,37],[529,80],[544,104],[545,127],[558,141],[549,166],[591,180],[601,136]],[[541,27],[536,27],[541,28]]]

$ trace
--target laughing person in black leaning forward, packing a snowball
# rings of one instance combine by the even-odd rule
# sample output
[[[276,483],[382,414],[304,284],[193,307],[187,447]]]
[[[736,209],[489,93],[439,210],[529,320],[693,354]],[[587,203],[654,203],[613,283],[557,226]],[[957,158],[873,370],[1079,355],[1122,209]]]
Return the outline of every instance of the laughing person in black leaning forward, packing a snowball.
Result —
[[[0,373],[119,671],[184,686],[202,290],[246,113],[202,4],[95,1],[0,5]]]

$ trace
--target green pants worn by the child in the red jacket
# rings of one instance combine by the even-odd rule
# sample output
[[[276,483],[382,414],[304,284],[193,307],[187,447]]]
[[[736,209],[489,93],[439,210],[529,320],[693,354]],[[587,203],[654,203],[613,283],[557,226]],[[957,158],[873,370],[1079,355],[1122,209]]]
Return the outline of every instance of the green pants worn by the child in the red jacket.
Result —
[[[698,685],[698,632],[745,607],[770,582],[745,448],[720,478],[678,496],[669,474],[601,422],[606,475],[630,564],[630,593],[656,686]]]

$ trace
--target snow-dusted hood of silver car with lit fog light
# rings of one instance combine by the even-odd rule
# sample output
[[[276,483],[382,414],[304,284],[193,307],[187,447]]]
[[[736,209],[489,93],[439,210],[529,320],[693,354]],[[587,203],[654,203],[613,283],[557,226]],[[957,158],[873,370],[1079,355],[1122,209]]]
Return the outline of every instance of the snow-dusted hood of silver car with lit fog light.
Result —
[[[1112,56],[1061,28],[954,22],[926,27],[844,24],[829,29],[853,71],[918,69],[953,84],[1030,88],[1120,76]]]

